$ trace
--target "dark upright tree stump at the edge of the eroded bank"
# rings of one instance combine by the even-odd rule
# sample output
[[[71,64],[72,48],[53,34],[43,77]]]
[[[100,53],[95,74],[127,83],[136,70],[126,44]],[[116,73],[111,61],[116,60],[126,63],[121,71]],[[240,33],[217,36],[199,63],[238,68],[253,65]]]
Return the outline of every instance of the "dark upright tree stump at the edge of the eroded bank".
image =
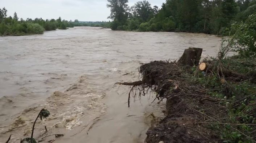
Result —
[[[198,66],[202,51],[202,48],[185,49],[184,53],[182,54],[178,62],[189,66]]]

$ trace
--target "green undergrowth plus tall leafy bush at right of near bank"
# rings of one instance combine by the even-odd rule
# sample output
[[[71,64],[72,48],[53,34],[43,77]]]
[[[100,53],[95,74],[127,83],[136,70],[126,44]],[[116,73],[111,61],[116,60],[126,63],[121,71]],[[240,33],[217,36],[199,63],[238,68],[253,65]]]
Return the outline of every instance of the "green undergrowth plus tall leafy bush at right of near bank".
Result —
[[[232,24],[228,31],[232,34],[228,40],[223,39],[222,48],[218,58],[211,60],[216,67],[226,68],[230,71],[241,73],[248,78],[239,81],[239,79],[225,78],[220,82],[217,73],[196,72],[195,76],[187,78],[194,84],[203,85],[207,89],[207,94],[214,98],[229,99],[234,101],[221,102],[220,104],[227,108],[229,118],[215,120],[212,122],[226,122],[229,124],[215,124],[209,128],[218,131],[225,143],[252,143],[255,142],[256,130],[256,14],[249,15],[245,22]],[[235,32],[234,32],[235,31]],[[225,44],[227,43],[227,44]],[[225,57],[230,52],[238,52],[238,55]],[[223,56],[224,55],[224,56]],[[224,58],[225,57],[225,58]],[[236,124],[232,126],[231,124]]]

